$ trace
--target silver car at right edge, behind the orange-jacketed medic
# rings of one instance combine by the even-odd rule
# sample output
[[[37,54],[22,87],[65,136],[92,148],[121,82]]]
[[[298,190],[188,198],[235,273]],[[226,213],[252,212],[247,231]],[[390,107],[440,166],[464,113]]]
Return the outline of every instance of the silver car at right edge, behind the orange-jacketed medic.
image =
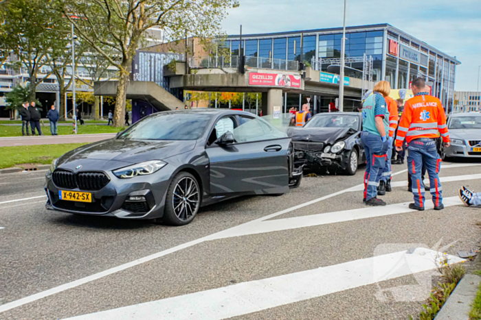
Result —
[[[447,121],[451,145],[444,147],[438,141],[438,150],[443,160],[449,158],[481,158],[481,113],[463,112],[451,114]]]

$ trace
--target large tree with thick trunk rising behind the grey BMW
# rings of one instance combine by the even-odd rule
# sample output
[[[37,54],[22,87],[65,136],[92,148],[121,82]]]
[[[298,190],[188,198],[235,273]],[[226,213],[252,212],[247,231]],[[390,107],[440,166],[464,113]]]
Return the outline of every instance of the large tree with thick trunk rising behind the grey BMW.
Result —
[[[118,88],[113,123],[124,123],[126,88],[135,51],[147,32],[159,27],[166,40],[186,33],[204,42],[220,34],[221,20],[238,0],[54,0],[63,16],[76,27],[82,40],[118,68]],[[78,18],[78,19],[75,19]],[[104,51],[110,47],[117,56]]]

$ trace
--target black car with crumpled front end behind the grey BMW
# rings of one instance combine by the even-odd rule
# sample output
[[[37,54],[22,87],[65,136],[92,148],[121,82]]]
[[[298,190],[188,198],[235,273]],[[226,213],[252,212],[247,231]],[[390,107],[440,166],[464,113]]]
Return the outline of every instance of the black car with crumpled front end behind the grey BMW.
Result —
[[[316,114],[304,127],[287,130],[294,146],[295,166],[316,170],[327,167],[355,175],[366,162],[360,141],[362,117],[359,112]]]

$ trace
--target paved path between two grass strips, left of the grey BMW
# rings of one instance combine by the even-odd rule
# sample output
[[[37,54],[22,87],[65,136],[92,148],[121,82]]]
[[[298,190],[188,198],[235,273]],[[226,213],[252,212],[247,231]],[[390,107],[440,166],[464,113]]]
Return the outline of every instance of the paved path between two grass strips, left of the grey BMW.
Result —
[[[62,143],[94,143],[115,137],[113,134],[65,134],[63,136],[13,136],[0,138],[0,147],[21,145],[60,145]]]

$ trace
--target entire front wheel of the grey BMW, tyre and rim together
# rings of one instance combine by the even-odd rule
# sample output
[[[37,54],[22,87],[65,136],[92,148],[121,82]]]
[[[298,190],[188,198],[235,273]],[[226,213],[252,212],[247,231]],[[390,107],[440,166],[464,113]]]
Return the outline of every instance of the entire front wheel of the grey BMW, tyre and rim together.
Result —
[[[166,205],[161,222],[168,225],[186,225],[194,220],[200,206],[199,182],[190,173],[179,172],[167,189]]]

